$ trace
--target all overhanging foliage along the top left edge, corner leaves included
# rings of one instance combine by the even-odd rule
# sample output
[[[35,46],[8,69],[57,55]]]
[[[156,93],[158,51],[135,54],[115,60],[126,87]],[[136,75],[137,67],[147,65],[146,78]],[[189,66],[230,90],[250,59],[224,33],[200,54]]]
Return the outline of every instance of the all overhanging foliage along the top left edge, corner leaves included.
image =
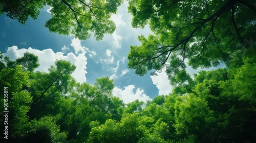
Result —
[[[111,15],[117,12],[117,7],[123,0],[26,0],[26,1],[1,1],[0,14],[7,13],[12,19],[18,19],[25,24],[29,16],[36,19],[39,9],[48,5],[51,18],[46,22],[45,27],[50,32],[61,35],[74,35],[79,39],[88,39],[94,34],[96,40],[101,40],[104,34],[112,34],[115,30],[115,23]]]

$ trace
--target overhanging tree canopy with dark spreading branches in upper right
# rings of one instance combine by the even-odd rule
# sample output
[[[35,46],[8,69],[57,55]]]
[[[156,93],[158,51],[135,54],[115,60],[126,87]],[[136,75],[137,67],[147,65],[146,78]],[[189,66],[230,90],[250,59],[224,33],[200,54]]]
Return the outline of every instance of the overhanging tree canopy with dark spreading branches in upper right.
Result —
[[[169,75],[229,62],[237,51],[255,52],[254,1],[135,1],[129,2],[132,26],[150,25],[154,34],[138,37],[128,55],[130,68],[144,75],[166,66]]]

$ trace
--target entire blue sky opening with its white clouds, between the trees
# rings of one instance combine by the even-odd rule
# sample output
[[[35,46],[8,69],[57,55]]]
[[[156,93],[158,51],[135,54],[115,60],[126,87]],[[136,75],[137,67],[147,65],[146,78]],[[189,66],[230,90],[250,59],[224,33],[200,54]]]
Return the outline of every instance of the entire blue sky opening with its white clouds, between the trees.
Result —
[[[49,7],[41,9],[38,18],[28,19],[25,25],[3,14],[0,16],[0,50],[12,60],[22,57],[25,52],[34,53],[39,57],[40,67],[37,70],[40,71],[47,71],[56,59],[71,61],[77,66],[72,76],[78,82],[93,84],[96,78],[108,76],[114,79],[113,95],[125,103],[136,99],[145,102],[158,94],[168,94],[172,88],[164,72],[155,77],[148,72],[141,77],[127,67],[130,45],[139,45],[137,37],[151,33],[148,27],[131,27],[132,16],[127,13],[127,5],[124,2],[112,16],[116,23],[115,32],[105,35],[101,41],[94,37],[81,41],[72,35],[49,32],[45,28],[50,18]]]

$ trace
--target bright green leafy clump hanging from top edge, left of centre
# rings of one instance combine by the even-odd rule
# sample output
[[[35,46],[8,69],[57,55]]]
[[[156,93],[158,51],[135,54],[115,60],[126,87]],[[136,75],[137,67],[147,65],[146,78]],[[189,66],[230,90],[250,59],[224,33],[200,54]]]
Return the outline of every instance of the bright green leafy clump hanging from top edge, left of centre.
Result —
[[[111,15],[117,12],[122,0],[116,1],[47,1],[51,6],[52,18],[46,22],[51,32],[62,35],[75,35],[79,39],[88,39],[94,33],[97,40],[104,34],[112,34],[115,23]],[[72,20],[71,20],[72,19]]]

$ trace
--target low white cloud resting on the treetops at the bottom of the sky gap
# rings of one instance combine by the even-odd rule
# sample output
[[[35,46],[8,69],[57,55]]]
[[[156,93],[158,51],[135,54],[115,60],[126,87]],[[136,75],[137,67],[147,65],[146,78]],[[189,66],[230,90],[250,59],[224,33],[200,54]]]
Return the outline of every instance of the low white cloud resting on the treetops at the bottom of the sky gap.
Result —
[[[137,99],[145,103],[147,100],[152,100],[144,93],[143,89],[140,90],[140,88],[137,88],[136,92],[134,93],[134,88],[134,85],[125,86],[123,90],[118,87],[114,87],[112,93],[114,96],[119,97],[121,100],[123,100],[124,103],[133,102]]]

